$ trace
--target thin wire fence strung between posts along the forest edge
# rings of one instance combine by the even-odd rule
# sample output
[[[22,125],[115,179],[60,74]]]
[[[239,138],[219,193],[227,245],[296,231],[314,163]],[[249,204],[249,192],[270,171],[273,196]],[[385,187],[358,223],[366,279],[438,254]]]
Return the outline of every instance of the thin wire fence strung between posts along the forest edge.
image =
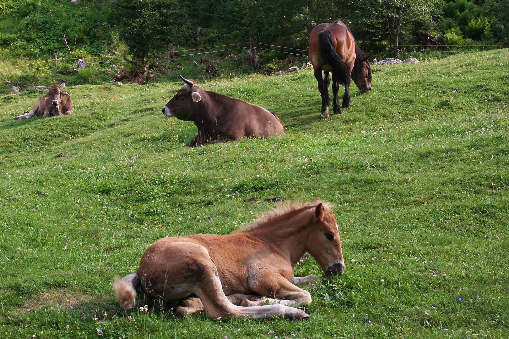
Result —
[[[242,47],[233,47],[233,48],[223,48],[223,49],[217,49],[218,47],[230,47],[230,46],[238,46],[238,45],[243,45]],[[264,48],[264,47],[261,47],[261,46],[268,46],[268,47],[273,47],[273,48],[278,48],[278,49],[272,49],[272,48]],[[496,45],[496,44],[486,44],[486,45],[461,45],[461,46],[458,46],[458,45],[431,45],[431,46],[428,46],[428,45],[398,45],[398,47],[401,47],[402,50],[401,52],[406,52],[406,53],[459,53],[459,52],[465,52],[467,50],[443,50],[443,49],[448,49],[450,47],[456,47],[456,49],[460,49],[460,48],[466,48],[466,47],[470,47],[470,48],[483,48],[485,49],[485,47],[491,47],[490,49],[493,49],[493,47],[498,47],[498,48],[506,48],[506,47],[509,47],[509,45]],[[271,45],[271,44],[266,44],[266,43],[262,43],[262,42],[239,42],[239,43],[233,43],[233,44],[226,44],[226,45],[218,45],[218,46],[213,46],[213,47],[198,47],[198,48],[191,48],[191,49],[183,49],[183,50],[177,50],[175,51],[176,53],[178,53],[178,55],[172,55],[172,56],[160,56],[159,55],[164,55],[164,53],[149,53],[148,56],[156,56],[156,60],[166,60],[166,59],[174,59],[174,58],[182,58],[182,57],[185,57],[185,56],[192,56],[192,55],[201,55],[201,54],[208,54],[208,53],[219,53],[219,52],[232,52],[234,50],[239,50],[239,49],[247,49],[247,48],[256,48],[258,50],[266,50],[266,51],[273,51],[273,52],[279,52],[279,53],[285,53],[285,54],[291,54],[291,55],[298,55],[298,56],[307,56],[307,50],[305,49],[300,49],[300,48],[294,48],[294,47],[286,47],[286,46],[278,46],[278,45]],[[420,50],[415,50],[415,49],[420,49]],[[214,49],[214,50],[208,50],[208,51],[203,51],[203,52],[196,52],[196,53],[188,53],[188,54],[181,54],[182,52],[191,52],[191,51],[199,51],[199,50],[204,50],[204,49]],[[283,49],[283,50],[281,50]],[[422,50],[422,49],[425,49],[425,50]],[[289,50],[291,50],[292,52],[290,52]],[[478,49],[477,49],[478,50]],[[298,52],[293,52],[293,51],[298,51]],[[50,59],[50,60],[44,60],[44,61],[37,61],[37,62],[33,62],[33,63],[29,63],[29,64],[24,64],[24,65],[17,65],[17,66],[10,66],[10,67],[6,67],[6,68],[2,68],[0,69],[0,72],[5,72],[5,71],[10,71],[10,72],[5,72],[5,73],[0,73],[0,75],[7,75],[7,74],[14,74],[14,73],[18,73],[20,72],[20,68],[22,67],[27,67],[27,66],[32,66],[32,65],[38,65],[38,64],[44,64],[44,63],[53,63],[53,65],[51,66],[47,66],[47,67],[39,67],[39,68],[30,68],[28,67],[27,69],[23,70],[25,72],[31,72],[31,71],[36,71],[36,70],[41,70],[41,69],[50,69],[50,68],[53,68],[55,70],[57,70],[59,67],[62,69],[62,67],[67,67],[69,66],[68,63],[64,63],[64,64],[60,64],[59,65],[59,62],[66,62],[66,61],[76,61],[77,59],[83,59],[83,60],[101,60],[101,59],[106,59],[106,58],[117,58],[117,60],[115,61],[105,61],[105,62],[98,62],[98,63],[95,63],[97,65],[103,65],[103,64],[114,64],[114,63],[132,63],[132,62],[138,62],[138,61],[141,61],[141,60],[134,60],[132,59],[133,58],[133,54],[126,54],[126,55],[104,55],[104,56],[86,56],[84,58],[57,58],[56,55],[55,55],[55,58],[54,59]],[[126,60],[126,58],[130,58],[131,60]]]

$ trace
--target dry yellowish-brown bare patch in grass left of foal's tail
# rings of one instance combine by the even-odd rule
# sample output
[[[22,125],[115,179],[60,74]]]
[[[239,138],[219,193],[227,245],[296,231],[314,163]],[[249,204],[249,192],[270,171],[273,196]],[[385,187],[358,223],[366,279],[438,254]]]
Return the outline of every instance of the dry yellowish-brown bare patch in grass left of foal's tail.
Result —
[[[37,309],[43,310],[51,306],[60,305],[62,307],[72,308],[80,306],[87,302],[98,302],[103,300],[104,297],[92,296],[76,290],[70,289],[43,289],[30,300],[26,300],[23,305],[17,307],[17,312],[26,312],[30,309],[31,312]]]

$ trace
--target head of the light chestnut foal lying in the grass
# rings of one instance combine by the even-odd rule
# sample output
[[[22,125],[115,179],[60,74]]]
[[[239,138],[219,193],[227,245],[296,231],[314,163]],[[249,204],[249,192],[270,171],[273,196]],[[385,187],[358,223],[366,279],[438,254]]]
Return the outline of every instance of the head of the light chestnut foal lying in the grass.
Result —
[[[341,238],[337,222],[329,208],[316,200],[313,227],[307,238],[307,251],[315,258],[326,275],[343,274],[345,261],[341,250]]]

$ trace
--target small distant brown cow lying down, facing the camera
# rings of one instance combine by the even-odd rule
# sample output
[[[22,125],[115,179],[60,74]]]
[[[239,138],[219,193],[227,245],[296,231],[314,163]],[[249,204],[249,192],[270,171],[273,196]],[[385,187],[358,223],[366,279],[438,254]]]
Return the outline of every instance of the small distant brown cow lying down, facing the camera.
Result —
[[[37,99],[34,108],[30,112],[14,119],[29,119],[33,116],[47,118],[68,114],[72,114],[71,96],[67,92],[62,92],[59,85],[52,85],[49,87],[48,93]]]

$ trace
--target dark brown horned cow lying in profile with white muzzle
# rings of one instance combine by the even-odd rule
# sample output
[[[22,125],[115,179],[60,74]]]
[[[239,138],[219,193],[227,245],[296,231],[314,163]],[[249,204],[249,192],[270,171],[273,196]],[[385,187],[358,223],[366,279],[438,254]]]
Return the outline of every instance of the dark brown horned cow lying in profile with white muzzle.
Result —
[[[240,99],[204,91],[194,80],[181,78],[186,84],[162,112],[168,117],[192,121],[198,127],[198,133],[186,146],[222,143],[243,137],[285,135],[274,112]]]

